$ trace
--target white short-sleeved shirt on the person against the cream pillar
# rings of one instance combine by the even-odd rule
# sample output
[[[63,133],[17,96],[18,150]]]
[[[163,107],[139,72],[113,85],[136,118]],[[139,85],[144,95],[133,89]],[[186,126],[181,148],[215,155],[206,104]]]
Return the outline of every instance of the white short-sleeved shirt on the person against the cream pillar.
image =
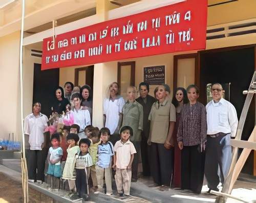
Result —
[[[103,114],[106,115],[105,127],[110,129],[111,134],[115,132],[118,126],[119,113],[122,112],[124,103],[122,97],[118,97],[114,101],[109,98],[104,99]]]

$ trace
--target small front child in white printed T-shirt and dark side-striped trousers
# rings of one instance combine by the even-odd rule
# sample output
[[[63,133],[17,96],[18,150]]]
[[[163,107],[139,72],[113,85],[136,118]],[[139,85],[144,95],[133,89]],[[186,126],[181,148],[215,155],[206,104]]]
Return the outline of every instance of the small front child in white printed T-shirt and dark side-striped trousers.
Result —
[[[87,168],[93,165],[92,157],[88,153],[90,140],[83,138],[79,141],[80,152],[76,154],[76,188],[78,196],[86,199],[88,197]]]

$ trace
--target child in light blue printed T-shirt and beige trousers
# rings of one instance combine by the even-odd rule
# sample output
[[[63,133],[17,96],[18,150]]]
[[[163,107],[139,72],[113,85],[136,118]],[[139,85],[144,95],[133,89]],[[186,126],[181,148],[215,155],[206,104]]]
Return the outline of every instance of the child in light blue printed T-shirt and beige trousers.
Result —
[[[98,162],[96,163],[96,176],[98,189],[103,192],[103,178],[105,177],[106,194],[112,194],[112,156],[114,155],[114,147],[110,139],[109,128],[101,128],[99,131],[101,142],[98,145]]]

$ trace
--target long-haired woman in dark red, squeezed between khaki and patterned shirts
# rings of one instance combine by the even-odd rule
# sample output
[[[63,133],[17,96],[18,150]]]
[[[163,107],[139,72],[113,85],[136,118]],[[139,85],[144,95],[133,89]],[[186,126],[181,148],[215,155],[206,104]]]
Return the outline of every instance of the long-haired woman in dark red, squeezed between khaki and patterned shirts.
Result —
[[[176,107],[176,123],[173,134],[174,139],[174,173],[172,178],[172,187],[181,187],[181,150],[177,142],[177,132],[180,121],[180,111],[183,104],[188,103],[187,92],[183,87],[178,87],[173,96],[172,103]]]

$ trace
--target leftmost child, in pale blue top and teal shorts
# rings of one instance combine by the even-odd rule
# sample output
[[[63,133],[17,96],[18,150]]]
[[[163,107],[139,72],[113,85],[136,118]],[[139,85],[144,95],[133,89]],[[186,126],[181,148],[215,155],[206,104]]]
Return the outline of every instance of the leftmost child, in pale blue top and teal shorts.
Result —
[[[54,177],[61,177],[61,166],[60,166],[60,160],[61,156],[63,154],[61,147],[59,146],[60,138],[59,133],[54,133],[51,136],[51,144],[52,146],[49,149],[48,152],[48,170],[47,174],[52,175]],[[51,187],[52,182],[51,182]]]

